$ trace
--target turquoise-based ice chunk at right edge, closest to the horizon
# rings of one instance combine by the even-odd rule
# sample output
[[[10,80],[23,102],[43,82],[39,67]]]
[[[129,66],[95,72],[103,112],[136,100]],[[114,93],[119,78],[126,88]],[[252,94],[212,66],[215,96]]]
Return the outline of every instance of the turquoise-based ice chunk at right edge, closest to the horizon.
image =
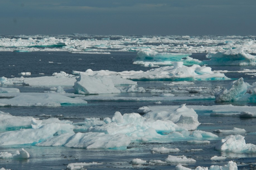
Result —
[[[255,66],[256,56],[245,53],[243,48],[226,50],[223,52],[209,53],[203,61],[208,65],[233,65],[233,66]]]

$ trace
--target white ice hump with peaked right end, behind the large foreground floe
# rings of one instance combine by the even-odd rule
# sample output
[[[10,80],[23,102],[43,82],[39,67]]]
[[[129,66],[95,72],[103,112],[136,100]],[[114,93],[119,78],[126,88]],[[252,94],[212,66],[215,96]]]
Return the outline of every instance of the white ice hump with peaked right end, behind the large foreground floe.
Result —
[[[145,110],[146,109],[146,110]],[[182,104],[179,108],[167,112],[167,111],[151,111],[150,109],[146,108],[143,110],[143,108],[140,108],[138,110],[139,113],[147,113],[143,115],[146,119],[154,119],[154,120],[170,120],[177,125],[184,127],[188,130],[195,130],[200,123],[198,122],[198,115],[194,111],[193,108],[187,108],[185,104]]]

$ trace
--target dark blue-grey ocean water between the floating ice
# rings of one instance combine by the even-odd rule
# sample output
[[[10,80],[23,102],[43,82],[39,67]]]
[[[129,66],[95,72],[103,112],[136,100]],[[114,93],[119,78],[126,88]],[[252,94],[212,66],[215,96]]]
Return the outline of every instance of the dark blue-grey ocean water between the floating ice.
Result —
[[[142,67],[132,64],[132,59],[136,57],[137,52],[111,52],[111,54],[76,54],[68,52],[0,52],[0,77],[6,78],[20,77],[21,72],[31,72],[30,76],[39,77],[51,76],[54,72],[65,71],[71,74],[72,70],[86,71],[87,69],[125,71],[125,70],[149,70],[151,68]],[[205,53],[193,53],[191,57],[205,60]],[[82,60],[79,60],[82,59]],[[53,62],[53,63],[49,63]],[[254,69],[255,66],[210,66],[212,70],[228,70],[237,71],[241,69]],[[39,74],[39,73],[44,73]],[[223,81],[194,81],[193,85],[186,87],[205,87],[210,90],[216,86],[226,86],[233,80],[240,77],[244,81],[252,84],[256,81],[251,75],[245,73],[225,73],[232,80]],[[163,84],[170,82],[157,81],[138,81],[138,86],[145,89],[169,89],[170,86]],[[177,88],[181,85],[175,85]],[[8,86],[19,88],[20,92],[44,92],[49,91],[49,87],[31,87],[31,86]],[[68,88],[68,87],[66,87]],[[177,93],[175,96],[188,96],[191,94]],[[195,96],[214,96],[211,92],[203,94],[194,94]],[[99,96],[114,97],[152,97],[159,96],[157,93],[121,93]],[[230,103],[215,103],[214,100],[180,100],[180,101],[162,101],[160,105],[219,105]],[[233,105],[252,105],[255,103],[232,103]],[[97,117],[104,119],[112,117],[116,111],[120,113],[136,113],[137,109],[142,106],[157,105],[153,101],[88,101],[87,105],[62,105],[61,107],[0,107],[0,111],[10,113],[14,116],[33,116],[40,119],[55,117],[73,122],[83,121],[84,118]],[[193,107],[192,107],[193,108]],[[207,111],[195,111],[198,114],[198,120],[202,123],[198,130],[213,132],[216,129],[231,130],[233,127],[245,129],[247,132],[256,132],[256,119],[240,119],[239,117],[212,117]],[[40,115],[48,115],[40,116]],[[62,115],[62,116],[58,116]],[[207,124],[212,123],[212,124]],[[168,155],[185,155],[188,158],[197,160],[196,163],[185,164],[189,168],[197,166],[210,167],[211,165],[226,165],[229,160],[237,162],[239,169],[254,168],[256,153],[225,153],[214,150],[216,143],[226,137],[227,134],[217,134],[218,138],[204,138],[210,140],[209,144],[193,145],[187,143],[186,138],[168,138],[161,140],[151,140],[149,142],[131,142],[127,149],[76,149],[66,147],[39,147],[34,145],[15,145],[0,146],[0,152],[14,153],[20,148],[24,148],[30,154],[30,158],[26,160],[0,159],[0,168],[12,170],[45,170],[45,169],[66,169],[70,163],[80,162],[98,162],[100,165],[92,165],[85,167],[87,169],[175,169],[176,165],[132,165],[131,160],[140,158],[142,160],[162,160],[164,161]],[[246,143],[255,143],[256,136],[245,135]],[[196,138],[195,138],[196,139]],[[155,147],[179,148],[181,152],[159,154],[151,153],[151,149]],[[202,151],[187,151],[191,149],[202,149]],[[225,160],[212,161],[211,157],[227,156]],[[251,166],[250,166],[251,165]]]

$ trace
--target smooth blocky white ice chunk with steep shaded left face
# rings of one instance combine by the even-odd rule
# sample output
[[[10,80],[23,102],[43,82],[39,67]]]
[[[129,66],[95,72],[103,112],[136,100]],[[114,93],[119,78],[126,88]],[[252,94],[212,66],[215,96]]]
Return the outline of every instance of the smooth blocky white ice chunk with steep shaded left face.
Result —
[[[76,94],[83,95],[120,93],[111,79],[101,76],[90,77],[84,74],[76,78],[74,89]]]

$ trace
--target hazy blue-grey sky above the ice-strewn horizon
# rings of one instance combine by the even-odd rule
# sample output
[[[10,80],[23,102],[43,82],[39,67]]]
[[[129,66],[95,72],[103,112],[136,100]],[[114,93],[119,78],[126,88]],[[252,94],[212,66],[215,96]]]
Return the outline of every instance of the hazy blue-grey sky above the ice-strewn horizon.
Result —
[[[256,0],[0,0],[0,34],[256,35]]]

